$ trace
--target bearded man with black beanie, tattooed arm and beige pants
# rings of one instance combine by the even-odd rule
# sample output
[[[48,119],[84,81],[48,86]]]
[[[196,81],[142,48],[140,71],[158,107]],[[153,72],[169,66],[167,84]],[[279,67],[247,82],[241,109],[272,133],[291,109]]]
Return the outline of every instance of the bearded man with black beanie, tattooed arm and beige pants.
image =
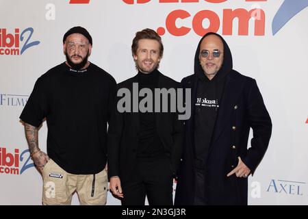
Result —
[[[66,62],[42,75],[20,116],[34,164],[43,177],[43,205],[105,205],[107,123],[116,81],[88,61],[92,37],[83,27],[63,38]],[[38,129],[46,118],[47,154],[38,147]]]

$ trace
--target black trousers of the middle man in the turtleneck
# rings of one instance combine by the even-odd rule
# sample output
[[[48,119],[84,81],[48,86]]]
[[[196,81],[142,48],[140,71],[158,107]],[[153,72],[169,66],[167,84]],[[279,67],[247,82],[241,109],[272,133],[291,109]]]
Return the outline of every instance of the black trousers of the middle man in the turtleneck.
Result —
[[[122,183],[122,205],[172,205],[173,177],[167,157],[138,161],[128,181]]]

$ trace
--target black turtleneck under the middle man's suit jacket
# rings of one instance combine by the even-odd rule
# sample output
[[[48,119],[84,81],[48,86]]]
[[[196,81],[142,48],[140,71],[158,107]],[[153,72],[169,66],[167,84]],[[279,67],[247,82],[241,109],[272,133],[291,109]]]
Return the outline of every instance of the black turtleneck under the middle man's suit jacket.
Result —
[[[138,72],[138,86],[139,90],[142,88],[149,88],[153,93],[153,107],[154,105],[154,89],[158,86],[158,70],[153,70],[152,73]],[[144,97],[139,97],[139,102]],[[140,131],[138,139],[138,159],[153,159],[164,154],[164,147],[160,142],[157,127],[155,112],[139,112]]]

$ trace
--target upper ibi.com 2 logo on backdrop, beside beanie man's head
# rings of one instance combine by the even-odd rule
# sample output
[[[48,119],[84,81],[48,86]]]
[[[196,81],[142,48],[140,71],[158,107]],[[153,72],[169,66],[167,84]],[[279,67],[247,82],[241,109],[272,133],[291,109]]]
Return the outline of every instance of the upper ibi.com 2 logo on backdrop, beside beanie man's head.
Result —
[[[9,29],[0,29],[0,55],[23,55],[30,47],[40,44],[40,41],[31,41],[34,29],[28,27],[21,31],[15,28],[14,32]]]

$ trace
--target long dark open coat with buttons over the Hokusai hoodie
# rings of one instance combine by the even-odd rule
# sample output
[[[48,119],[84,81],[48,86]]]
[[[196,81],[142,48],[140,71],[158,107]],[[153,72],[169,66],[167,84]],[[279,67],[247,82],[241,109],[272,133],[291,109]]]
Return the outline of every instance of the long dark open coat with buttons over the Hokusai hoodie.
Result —
[[[246,205],[248,180],[227,174],[238,165],[238,157],[251,172],[261,162],[272,132],[272,123],[255,79],[231,70],[226,76],[216,125],[211,137],[205,173],[205,191],[209,205]],[[182,80],[196,99],[196,75]],[[179,170],[175,205],[194,203],[194,105],[185,124],[183,159]],[[251,147],[247,149],[250,129]]]

